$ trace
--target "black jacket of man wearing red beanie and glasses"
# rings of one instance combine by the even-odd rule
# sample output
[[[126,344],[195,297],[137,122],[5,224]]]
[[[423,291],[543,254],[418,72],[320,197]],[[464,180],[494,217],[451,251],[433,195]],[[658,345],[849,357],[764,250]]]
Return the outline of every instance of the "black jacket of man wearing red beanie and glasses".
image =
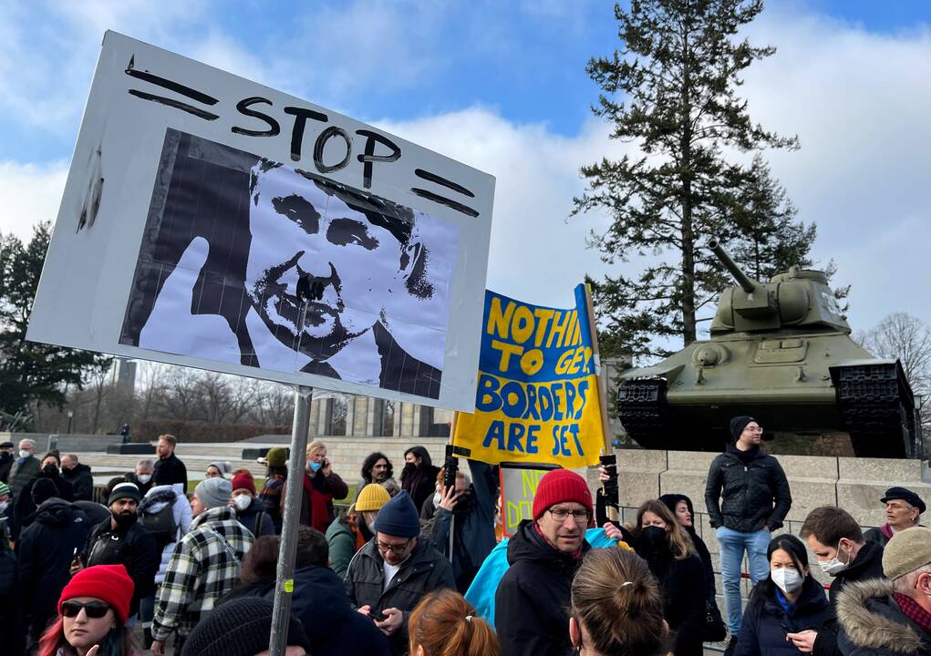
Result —
[[[582,542],[582,554],[591,549]],[[507,542],[507,569],[494,595],[494,629],[502,656],[566,656],[571,588],[581,557],[550,546],[533,527],[520,522]]]

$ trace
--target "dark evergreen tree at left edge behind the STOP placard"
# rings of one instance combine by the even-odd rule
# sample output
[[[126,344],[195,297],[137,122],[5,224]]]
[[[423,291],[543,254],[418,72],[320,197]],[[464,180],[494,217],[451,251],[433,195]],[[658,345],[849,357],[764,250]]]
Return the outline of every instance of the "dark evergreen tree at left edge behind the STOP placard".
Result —
[[[89,351],[26,341],[50,236],[48,223],[35,226],[26,245],[0,234],[0,412],[7,422],[33,403],[61,406],[68,385],[81,387],[91,372],[110,366],[110,358]]]

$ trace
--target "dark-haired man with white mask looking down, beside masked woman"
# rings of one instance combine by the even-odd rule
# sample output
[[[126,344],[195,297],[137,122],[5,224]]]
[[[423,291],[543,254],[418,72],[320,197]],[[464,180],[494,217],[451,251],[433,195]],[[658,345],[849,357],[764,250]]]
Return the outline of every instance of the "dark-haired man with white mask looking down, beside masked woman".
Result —
[[[837,596],[848,583],[883,577],[883,547],[863,539],[857,520],[832,505],[816,508],[805,517],[800,535],[820,568],[834,581],[830,584],[830,619],[818,631],[789,634],[792,643],[815,656],[839,656],[837,646]]]

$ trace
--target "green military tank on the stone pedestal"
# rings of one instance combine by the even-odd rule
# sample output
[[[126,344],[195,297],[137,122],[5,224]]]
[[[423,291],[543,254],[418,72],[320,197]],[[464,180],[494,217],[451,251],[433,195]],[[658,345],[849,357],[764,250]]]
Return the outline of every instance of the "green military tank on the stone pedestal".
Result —
[[[764,435],[850,435],[860,457],[921,455],[921,423],[898,360],[850,339],[824,272],[792,267],[749,278],[708,242],[737,284],[724,291],[711,337],[648,368],[623,372],[618,417],[643,448],[719,451],[735,415]]]

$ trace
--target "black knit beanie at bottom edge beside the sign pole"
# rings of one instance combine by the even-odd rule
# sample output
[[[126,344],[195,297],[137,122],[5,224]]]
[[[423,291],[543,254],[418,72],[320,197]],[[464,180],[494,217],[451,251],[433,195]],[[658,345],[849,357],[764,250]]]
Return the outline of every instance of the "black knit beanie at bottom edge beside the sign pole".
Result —
[[[187,636],[181,656],[254,656],[268,650],[273,608],[261,596],[244,596],[211,610]],[[311,653],[304,626],[294,617],[288,623],[288,645]]]

